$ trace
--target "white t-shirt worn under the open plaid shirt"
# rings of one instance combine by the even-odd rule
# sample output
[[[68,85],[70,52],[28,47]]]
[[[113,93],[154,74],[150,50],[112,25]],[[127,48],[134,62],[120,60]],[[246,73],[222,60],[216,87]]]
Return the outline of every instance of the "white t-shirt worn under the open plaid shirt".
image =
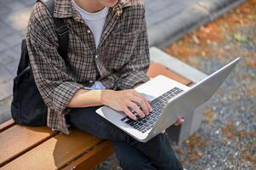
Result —
[[[85,11],[84,9],[80,8],[77,5],[77,3],[74,2],[74,0],[72,0],[71,2],[73,3],[74,7],[77,9],[78,13],[82,15],[82,20],[84,20],[84,22],[87,24],[90,30],[93,31],[95,46],[96,48],[98,48],[103,26],[105,24],[105,18],[106,18],[106,15],[108,14],[109,8],[105,7],[99,12],[89,13],[88,11]],[[87,33],[90,33],[90,32],[87,32]],[[103,86],[101,82],[95,81],[91,87],[84,87],[84,88],[85,89],[105,89],[105,86]]]

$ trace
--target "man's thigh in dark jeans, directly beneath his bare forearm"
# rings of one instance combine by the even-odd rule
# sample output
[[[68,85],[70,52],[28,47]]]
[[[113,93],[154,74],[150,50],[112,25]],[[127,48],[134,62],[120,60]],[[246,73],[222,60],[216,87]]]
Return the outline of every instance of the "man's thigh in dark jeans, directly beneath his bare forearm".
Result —
[[[112,141],[135,142],[135,139],[124,133],[121,129],[108,122],[105,118],[98,115],[95,111],[100,106],[74,108],[66,116],[66,121],[71,127],[76,127],[83,132],[93,134],[100,139],[110,139]]]

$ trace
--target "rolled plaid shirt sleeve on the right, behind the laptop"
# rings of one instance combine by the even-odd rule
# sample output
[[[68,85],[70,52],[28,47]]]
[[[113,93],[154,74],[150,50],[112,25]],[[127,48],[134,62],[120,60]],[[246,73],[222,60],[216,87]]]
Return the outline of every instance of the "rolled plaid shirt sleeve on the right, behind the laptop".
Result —
[[[134,48],[131,60],[122,68],[122,74],[118,79],[118,89],[134,88],[139,83],[150,80],[146,72],[150,65],[150,52],[145,17],[142,22],[142,29],[137,38],[134,39]]]

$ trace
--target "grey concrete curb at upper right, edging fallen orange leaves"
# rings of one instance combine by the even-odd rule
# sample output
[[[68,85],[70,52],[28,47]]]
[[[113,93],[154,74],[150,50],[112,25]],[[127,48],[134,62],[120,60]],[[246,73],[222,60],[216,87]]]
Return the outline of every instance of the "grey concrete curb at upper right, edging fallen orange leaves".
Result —
[[[245,0],[202,0],[174,18],[164,20],[148,29],[150,46],[164,48],[186,32],[213,21]]]

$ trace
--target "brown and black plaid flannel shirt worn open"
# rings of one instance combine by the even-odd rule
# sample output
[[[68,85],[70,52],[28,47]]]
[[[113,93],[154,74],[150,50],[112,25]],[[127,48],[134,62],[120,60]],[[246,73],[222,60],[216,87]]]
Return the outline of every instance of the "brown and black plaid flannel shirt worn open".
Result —
[[[70,0],[55,0],[54,17],[63,18],[69,29],[69,65],[58,54],[54,22],[43,3],[32,8],[26,42],[37,88],[48,106],[48,127],[69,134],[65,114],[77,90],[95,81],[108,89],[127,89],[149,80],[145,8],[142,0],[119,0],[107,14],[98,48]]]

